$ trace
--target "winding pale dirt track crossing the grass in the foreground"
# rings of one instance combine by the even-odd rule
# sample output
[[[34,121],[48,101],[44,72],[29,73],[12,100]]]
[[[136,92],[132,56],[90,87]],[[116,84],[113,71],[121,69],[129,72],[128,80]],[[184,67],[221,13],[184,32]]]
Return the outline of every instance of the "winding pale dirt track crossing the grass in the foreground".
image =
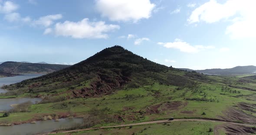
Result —
[[[68,131],[50,132],[50,133],[48,133],[48,134],[69,133],[69,132],[87,131],[87,130],[94,130],[94,129],[127,127],[127,126],[130,126],[130,125],[146,125],[146,124],[155,124],[155,123],[164,123],[164,122],[177,122],[177,121],[224,122],[224,123],[227,123],[227,124],[236,124],[236,125],[245,125],[245,126],[255,126],[255,125],[252,125],[252,124],[243,124],[243,123],[227,122],[227,121],[220,121],[220,120],[210,120],[210,119],[174,119],[174,120],[172,120],[172,121],[168,121],[168,120],[158,120],[158,121],[140,122],[140,123],[126,124],[126,125],[112,125],[112,126],[103,126],[103,127],[98,127],[98,128],[76,129],[76,130],[68,130]],[[41,134],[41,135],[45,135],[45,134]],[[47,134],[46,134],[46,135],[47,135]]]

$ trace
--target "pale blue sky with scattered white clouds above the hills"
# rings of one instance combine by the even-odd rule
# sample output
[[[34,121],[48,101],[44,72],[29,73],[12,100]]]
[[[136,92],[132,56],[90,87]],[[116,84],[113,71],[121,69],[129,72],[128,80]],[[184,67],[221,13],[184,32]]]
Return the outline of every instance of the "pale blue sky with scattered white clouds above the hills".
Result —
[[[0,61],[75,64],[121,45],[190,69],[256,65],[256,0],[0,0]]]

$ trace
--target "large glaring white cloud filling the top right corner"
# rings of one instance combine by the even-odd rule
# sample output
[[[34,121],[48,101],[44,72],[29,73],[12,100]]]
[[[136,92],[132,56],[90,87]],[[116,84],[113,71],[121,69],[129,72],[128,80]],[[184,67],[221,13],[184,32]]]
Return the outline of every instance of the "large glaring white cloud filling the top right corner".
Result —
[[[227,0],[225,3],[210,0],[197,7],[187,21],[190,24],[229,21],[231,25],[227,26],[226,34],[232,39],[256,38],[255,5],[256,0]]]

